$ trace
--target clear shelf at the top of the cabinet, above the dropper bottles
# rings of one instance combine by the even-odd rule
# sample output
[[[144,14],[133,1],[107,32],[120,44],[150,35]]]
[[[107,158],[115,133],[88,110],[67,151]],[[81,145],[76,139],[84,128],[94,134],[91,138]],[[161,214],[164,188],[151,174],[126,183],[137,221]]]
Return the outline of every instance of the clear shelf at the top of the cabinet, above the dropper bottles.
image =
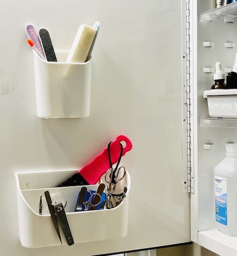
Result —
[[[210,22],[215,18],[237,18],[237,2],[200,14],[201,22]]]

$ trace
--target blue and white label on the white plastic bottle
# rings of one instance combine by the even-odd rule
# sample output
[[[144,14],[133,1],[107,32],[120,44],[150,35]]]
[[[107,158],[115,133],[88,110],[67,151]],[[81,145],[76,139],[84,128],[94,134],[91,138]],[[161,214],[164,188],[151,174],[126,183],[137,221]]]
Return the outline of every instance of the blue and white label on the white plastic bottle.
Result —
[[[216,221],[227,226],[226,179],[215,176]]]

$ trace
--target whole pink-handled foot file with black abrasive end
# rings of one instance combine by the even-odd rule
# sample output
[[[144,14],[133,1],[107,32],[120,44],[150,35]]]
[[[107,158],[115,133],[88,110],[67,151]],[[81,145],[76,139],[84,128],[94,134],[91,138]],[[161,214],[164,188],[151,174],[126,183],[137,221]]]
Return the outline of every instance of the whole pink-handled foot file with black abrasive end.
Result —
[[[112,164],[118,162],[121,147],[120,143],[125,142],[122,155],[125,155],[132,149],[132,142],[125,135],[118,137],[110,144],[110,156]],[[89,164],[82,167],[68,180],[65,180],[57,187],[77,186],[77,185],[93,185],[96,184],[100,177],[109,169],[108,148],[106,147],[98,156],[96,156]]]

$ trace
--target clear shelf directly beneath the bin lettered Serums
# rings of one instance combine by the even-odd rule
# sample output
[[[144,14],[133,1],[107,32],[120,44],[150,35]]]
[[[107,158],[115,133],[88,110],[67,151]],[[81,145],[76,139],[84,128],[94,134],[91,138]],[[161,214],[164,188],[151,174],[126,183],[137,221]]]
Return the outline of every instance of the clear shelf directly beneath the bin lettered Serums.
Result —
[[[237,119],[234,118],[200,118],[201,126],[237,128]]]

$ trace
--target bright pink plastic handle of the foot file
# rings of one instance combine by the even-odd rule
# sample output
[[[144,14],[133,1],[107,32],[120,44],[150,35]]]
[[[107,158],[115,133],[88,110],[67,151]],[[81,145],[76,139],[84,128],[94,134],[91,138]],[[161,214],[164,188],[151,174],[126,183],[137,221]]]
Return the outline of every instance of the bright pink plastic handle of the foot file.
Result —
[[[128,137],[124,135],[118,135],[118,137],[110,144],[110,155],[112,164],[118,162],[121,147],[119,143],[125,142],[126,145],[123,147],[122,155],[125,155],[126,152],[132,149],[132,142],[128,139]],[[78,171],[82,177],[89,184],[96,184],[100,177],[109,169],[109,156],[108,149],[105,148],[98,156],[96,156],[90,163],[82,167],[80,171]]]

